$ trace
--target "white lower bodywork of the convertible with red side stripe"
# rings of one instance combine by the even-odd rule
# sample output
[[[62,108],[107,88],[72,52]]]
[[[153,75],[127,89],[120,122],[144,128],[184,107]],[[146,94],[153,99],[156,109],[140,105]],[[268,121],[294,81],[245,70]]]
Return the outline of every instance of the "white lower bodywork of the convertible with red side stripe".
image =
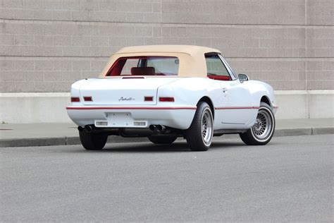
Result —
[[[67,107],[70,119],[78,126],[95,124],[104,128],[163,125],[187,129],[203,97],[214,107],[215,130],[250,128],[264,96],[276,111],[273,88],[255,80],[240,83],[209,78],[94,78],[74,83],[71,96],[80,97],[80,102]],[[145,96],[153,96],[154,100],[144,102]],[[92,97],[93,101],[84,102],[83,97]],[[175,101],[159,102],[159,97],[174,97]],[[97,125],[97,121],[104,121],[104,126]]]

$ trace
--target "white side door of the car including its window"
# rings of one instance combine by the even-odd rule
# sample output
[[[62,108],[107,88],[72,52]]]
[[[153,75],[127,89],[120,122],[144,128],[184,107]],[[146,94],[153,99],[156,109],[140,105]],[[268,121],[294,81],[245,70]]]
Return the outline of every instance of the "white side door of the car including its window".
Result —
[[[252,119],[249,88],[240,83],[219,54],[206,54],[206,67],[208,77],[221,85],[221,93],[215,102],[215,128],[245,128]]]

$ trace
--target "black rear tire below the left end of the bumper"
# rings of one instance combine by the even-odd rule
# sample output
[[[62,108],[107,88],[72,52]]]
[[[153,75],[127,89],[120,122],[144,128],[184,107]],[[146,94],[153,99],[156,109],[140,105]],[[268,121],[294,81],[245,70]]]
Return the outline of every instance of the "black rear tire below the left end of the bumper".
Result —
[[[81,144],[86,150],[102,150],[108,139],[108,135],[87,131],[79,131],[79,136]]]

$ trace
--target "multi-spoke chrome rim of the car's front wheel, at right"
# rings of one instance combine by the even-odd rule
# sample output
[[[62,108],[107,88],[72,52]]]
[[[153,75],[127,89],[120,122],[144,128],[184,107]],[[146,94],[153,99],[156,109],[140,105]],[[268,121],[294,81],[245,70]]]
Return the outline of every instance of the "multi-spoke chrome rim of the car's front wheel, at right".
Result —
[[[252,126],[252,134],[258,140],[266,140],[273,131],[273,119],[268,109],[260,109],[257,114],[254,126]]]

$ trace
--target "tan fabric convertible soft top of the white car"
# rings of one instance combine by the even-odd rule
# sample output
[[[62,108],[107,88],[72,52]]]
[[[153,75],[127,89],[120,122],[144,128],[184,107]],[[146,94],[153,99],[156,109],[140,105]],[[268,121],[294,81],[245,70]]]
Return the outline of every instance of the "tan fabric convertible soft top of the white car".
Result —
[[[190,45],[124,47],[110,57],[99,77],[103,78],[118,58],[128,56],[176,56],[180,60],[179,77],[206,77],[204,54],[211,52],[221,53],[218,49]]]

